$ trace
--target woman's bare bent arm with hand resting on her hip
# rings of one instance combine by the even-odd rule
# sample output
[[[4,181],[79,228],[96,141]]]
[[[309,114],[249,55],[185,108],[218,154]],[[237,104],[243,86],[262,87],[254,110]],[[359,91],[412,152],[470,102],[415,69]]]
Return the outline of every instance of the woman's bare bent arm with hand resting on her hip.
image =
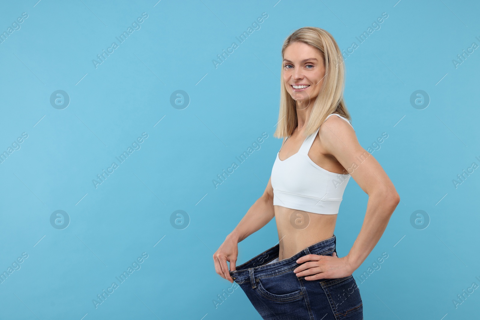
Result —
[[[400,201],[395,187],[378,161],[360,146],[355,131],[338,117],[328,118],[318,132],[322,146],[347,169],[360,188],[368,194],[367,211],[360,233],[348,255],[306,255],[294,270],[305,280],[342,278],[352,274],[382,237],[392,213]],[[305,262],[305,263],[304,263]]]

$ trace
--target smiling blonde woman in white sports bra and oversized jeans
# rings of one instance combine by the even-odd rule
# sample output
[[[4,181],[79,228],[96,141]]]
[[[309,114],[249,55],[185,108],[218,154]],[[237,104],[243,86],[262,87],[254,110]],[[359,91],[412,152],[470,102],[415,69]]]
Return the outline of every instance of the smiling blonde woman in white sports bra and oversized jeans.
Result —
[[[286,138],[264,194],[214,254],[215,269],[240,285],[263,319],[363,319],[352,273],[377,244],[400,198],[349,122],[344,63],[332,35],[300,28],[285,40],[282,58],[274,136]],[[339,258],[334,229],[350,175],[369,200],[357,239]],[[273,217],[279,243],[236,267],[238,242]]]

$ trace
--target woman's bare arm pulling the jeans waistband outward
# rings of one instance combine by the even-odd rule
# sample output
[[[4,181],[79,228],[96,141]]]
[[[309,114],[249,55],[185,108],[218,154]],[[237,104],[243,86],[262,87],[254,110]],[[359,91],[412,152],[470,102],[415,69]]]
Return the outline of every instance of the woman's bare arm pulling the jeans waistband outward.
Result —
[[[220,248],[213,255],[215,271],[223,278],[233,283],[228,272],[227,261],[230,262],[230,271],[235,271],[235,263],[238,256],[238,243],[261,229],[275,216],[273,207],[273,188],[271,178],[268,179],[264,194],[258,198],[250,207],[247,213],[240,220],[239,224],[225,238]]]

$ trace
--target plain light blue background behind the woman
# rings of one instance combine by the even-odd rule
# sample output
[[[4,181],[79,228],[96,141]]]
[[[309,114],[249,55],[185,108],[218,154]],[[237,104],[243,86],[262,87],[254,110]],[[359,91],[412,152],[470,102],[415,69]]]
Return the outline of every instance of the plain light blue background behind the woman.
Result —
[[[281,141],[278,117],[282,43],[317,26],[347,49],[382,12],[388,18],[345,60],[345,101],[360,144],[392,179],[401,202],[383,237],[353,274],[365,319],[474,319],[480,289],[452,299],[480,277],[479,169],[456,189],[478,142],[480,45],[476,1],[9,1],[0,31],[28,18],[0,44],[0,151],[28,138],[0,164],[0,271],[28,258],[0,284],[1,319],[261,319],[212,255],[261,196]],[[92,63],[143,12],[148,18],[97,69]],[[239,44],[235,36],[268,18]],[[212,60],[239,47],[217,68]],[[64,90],[58,110],[50,95]],[[184,90],[179,110],[170,95]],[[424,90],[418,110],[410,95]],[[158,122],[161,119],[160,122]],[[92,179],[146,132],[148,138],[98,188]],[[212,179],[262,132],[261,149],[224,183]],[[351,179],[336,227],[337,251],[355,241],[368,196]],[[57,230],[50,215],[64,210]],[[177,230],[170,215],[191,221]],[[417,230],[410,215],[424,210]],[[159,241],[161,239],[161,241]],[[276,244],[275,221],[239,245],[243,263]],[[395,246],[395,247],[394,247]],[[92,299],[148,254],[98,308]],[[359,276],[387,252],[381,269]],[[444,318],[443,318],[444,317]]]

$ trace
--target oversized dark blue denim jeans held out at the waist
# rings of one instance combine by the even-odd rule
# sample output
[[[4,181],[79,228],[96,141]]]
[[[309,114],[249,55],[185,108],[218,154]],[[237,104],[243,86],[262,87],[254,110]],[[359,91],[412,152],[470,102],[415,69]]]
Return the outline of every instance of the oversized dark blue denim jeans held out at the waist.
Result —
[[[360,291],[352,275],[337,279],[305,280],[293,270],[308,254],[332,256],[335,235],[274,262],[279,245],[230,271],[253,307],[266,320],[363,320]],[[269,263],[272,262],[272,263]]]

